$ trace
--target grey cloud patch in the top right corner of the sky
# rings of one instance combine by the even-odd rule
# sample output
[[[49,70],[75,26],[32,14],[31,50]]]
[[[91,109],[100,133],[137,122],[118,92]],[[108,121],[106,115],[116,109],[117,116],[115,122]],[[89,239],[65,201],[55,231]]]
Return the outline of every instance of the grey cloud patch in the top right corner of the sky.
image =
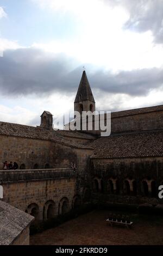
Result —
[[[112,7],[120,5],[129,11],[124,28],[137,32],[152,31],[154,40],[163,43],[162,0],[102,0]]]

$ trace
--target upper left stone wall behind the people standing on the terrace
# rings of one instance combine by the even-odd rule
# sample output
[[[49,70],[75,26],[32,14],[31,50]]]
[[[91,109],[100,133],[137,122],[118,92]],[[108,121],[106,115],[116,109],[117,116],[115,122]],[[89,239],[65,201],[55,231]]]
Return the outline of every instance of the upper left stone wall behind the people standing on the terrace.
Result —
[[[70,168],[76,162],[78,168],[85,168],[86,159],[92,150],[76,149],[59,143],[41,139],[30,139],[12,136],[0,136],[0,169],[4,161],[17,162],[20,168]]]

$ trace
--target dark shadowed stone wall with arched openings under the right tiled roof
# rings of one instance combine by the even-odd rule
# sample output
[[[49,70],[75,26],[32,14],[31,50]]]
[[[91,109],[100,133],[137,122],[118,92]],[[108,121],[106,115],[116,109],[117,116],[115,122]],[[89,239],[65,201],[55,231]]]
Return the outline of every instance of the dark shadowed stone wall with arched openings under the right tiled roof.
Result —
[[[91,159],[91,176],[95,201],[100,194],[104,202],[162,204],[158,187],[163,184],[163,157]]]

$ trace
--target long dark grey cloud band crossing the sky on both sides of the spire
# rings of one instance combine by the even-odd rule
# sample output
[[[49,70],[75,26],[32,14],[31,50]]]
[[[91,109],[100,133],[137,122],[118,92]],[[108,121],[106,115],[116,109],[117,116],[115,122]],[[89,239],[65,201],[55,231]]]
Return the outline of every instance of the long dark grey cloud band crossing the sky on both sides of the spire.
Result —
[[[74,66],[77,68],[74,69]],[[146,95],[163,84],[162,69],[121,71],[118,74],[87,66],[92,88],[103,92]],[[89,72],[89,70],[91,72]],[[0,90],[7,95],[76,93],[82,65],[64,54],[45,53],[34,48],[5,51],[0,58]]]

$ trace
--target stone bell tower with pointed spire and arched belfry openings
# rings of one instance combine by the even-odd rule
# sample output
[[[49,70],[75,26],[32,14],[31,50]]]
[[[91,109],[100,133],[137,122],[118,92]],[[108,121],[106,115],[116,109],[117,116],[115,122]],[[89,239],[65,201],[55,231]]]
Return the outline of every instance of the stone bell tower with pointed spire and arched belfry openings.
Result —
[[[95,110],[95,100],[84,70],[74,101],[74,111],[79,111],[82,114],[82,111],[93,112]]]

